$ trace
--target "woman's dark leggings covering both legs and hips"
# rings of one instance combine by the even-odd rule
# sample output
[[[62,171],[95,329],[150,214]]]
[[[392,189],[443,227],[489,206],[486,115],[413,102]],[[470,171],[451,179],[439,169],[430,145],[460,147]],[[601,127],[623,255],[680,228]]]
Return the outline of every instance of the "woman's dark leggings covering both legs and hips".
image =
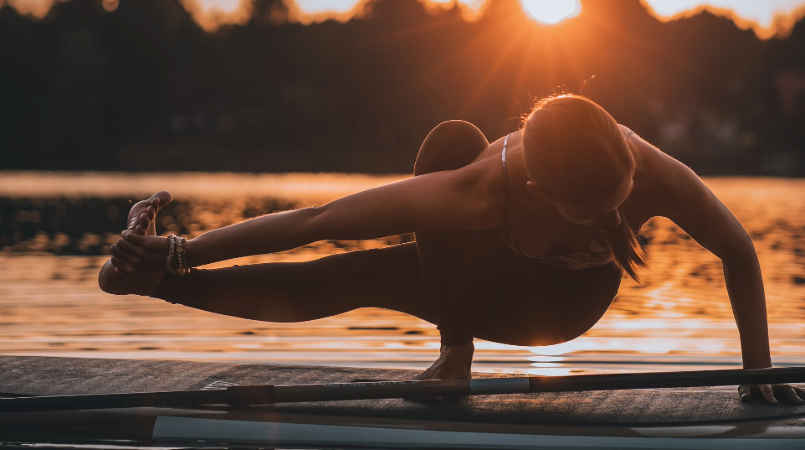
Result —
[[[422,143],[414,175],[463,167],[488,145],[474,125],[442,122]],[[154,297],[267,322],[387,308],[437,325],[444,345],[473,337],[549,345],[592,327],[620,281],[613,264],[565,270],[518,256],[494,229],[416,233],[416,242],[309,262],[166,274]]]

